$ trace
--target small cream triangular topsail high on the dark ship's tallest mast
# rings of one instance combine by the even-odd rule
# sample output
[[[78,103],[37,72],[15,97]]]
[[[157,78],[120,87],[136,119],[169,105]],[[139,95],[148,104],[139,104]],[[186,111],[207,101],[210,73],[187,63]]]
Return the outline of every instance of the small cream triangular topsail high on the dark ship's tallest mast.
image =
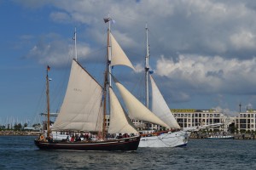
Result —
[[[126,56],[123,49],[119,46],[119,43],[114,39],[113,35],[110,33],[111,40],[111,65],[126,65],[131,67],[135,71],[133,65],[131,65],[131,61]]]

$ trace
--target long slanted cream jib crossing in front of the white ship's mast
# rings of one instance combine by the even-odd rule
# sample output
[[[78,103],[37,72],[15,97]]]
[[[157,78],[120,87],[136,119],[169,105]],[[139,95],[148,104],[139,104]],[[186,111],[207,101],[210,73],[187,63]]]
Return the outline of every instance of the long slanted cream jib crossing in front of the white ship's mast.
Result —
[[[116,86],[119,88],[119,92],[124,99],[128,114],[131,118],[170,128],[165,122],[161,121],[160,118],[155,116],[154,113],[149,111],[148,108],[145,107],[136,97],[134,97],[122,84],[115,79],[113,80]]]

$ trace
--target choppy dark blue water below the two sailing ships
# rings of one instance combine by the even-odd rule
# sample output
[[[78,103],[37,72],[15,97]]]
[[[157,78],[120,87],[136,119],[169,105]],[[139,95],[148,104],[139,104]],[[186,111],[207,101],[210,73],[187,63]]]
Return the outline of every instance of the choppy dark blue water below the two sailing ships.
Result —
[[[190,139],[137,152],[38,150],[35,137],[0,136],[0,169],[256,169],[256,140]]]

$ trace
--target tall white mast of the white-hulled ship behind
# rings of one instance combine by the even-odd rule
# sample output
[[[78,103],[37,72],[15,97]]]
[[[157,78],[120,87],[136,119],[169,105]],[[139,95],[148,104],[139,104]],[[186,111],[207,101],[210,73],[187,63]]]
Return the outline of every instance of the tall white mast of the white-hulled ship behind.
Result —
[[[148,95],[148,71],[149,71],[149,45],[148,45],[148,26],[146,24],[146,57],[145,57],[145,85],[146,85],[146,107],[148,107],[149,103],[149,95]]]

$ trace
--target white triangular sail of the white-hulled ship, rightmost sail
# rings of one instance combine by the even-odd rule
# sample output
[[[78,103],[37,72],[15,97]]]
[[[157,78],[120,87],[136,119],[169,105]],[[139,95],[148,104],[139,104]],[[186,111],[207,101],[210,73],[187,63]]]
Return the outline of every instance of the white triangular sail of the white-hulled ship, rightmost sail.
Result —
[[[180,128],[172,115],[171,110],[166,104],[166,100],[163,98],[162,94],[160,94],[159,88],[157,88],[153,77],[150,75],[150,82],[152,88],[152,112],[156,116],[160,118],[163,122],[165,122],[169,127],[172,128]]]

